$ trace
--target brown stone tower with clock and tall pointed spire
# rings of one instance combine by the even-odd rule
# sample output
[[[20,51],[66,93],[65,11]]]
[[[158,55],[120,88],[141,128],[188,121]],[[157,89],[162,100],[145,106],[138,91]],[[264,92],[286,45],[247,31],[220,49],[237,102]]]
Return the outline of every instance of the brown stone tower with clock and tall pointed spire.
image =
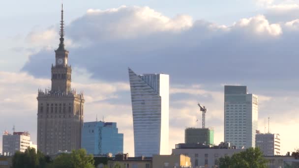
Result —
[[[37,145],[45,154],[71,151],[81,147],[84,96],[71,89],[71,66],[64,48],[63,9],[61,9],[60,44],[52,64],[51,89],[38,90]]]

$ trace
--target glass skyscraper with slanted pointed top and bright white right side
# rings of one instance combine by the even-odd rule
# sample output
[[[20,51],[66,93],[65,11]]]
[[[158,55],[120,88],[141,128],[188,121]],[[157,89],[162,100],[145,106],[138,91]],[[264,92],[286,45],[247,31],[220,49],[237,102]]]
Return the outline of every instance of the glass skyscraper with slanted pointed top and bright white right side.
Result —
[[[169,75],[136,75],[129,68],[135,156],[168,154]]]

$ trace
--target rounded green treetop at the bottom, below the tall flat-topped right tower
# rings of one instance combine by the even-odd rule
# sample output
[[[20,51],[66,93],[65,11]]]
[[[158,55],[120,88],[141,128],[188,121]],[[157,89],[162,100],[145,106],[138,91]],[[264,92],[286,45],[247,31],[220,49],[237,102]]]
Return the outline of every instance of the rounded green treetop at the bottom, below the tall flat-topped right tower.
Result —
[[[232,157],[219,159],[219,168],[267,168],[267,160],[259,148],[248,148]]]

